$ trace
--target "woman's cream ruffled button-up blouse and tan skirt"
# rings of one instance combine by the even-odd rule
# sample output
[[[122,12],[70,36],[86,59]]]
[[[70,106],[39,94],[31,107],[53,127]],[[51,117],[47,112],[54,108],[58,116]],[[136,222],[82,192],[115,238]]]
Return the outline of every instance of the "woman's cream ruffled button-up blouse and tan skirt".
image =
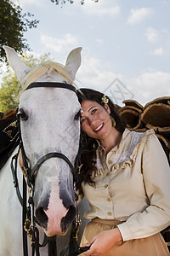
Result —
[[[161,230],[170,225],[170,167],[154,131],[122,134],[105,158],[97,149],[95,186],[82,183],[92,219],[81,246],[102,230],[117,226],[122,242],[103,255],[169,255]]]

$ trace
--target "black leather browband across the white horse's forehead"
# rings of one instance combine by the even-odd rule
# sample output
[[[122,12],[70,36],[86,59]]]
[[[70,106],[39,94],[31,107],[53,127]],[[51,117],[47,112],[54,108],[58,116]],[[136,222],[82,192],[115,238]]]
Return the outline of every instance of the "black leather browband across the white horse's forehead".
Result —
[[[71,85],[71,84],[65,84],[65,83],[53,83],[53,82],[36,82],[31,83],[26,90],[31,88],[37,88],[37,87],[54,87],[54,88],[65,88],[69,90],[73,90],[75,93],[77,93],[77,89]]]

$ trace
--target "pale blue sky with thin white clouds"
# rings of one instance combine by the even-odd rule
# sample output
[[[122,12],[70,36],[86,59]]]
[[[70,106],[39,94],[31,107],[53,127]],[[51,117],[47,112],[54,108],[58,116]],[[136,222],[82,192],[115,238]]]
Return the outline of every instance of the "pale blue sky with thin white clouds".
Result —
[[[40,20],[25,33],[34,54],[65,64],[82,47],[79,88],[100,90],[122,107],[128,99],[144,106],[170,96],[170,0],[75,0],[62,8],[50,0],[14,1]]]

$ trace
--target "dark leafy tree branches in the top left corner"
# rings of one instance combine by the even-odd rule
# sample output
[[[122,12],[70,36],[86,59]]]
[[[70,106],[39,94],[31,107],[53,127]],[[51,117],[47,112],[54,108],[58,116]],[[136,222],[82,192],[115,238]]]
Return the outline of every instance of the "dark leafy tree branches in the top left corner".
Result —
[[[24,38],[24,32],[28,28],[37,27],[39,20],[30,20],[31,13],[24,13],[20,6],[16,6],[10,0],[0,1],[0,56],[3,58],[5,52],[3,44],[9,45],[15,50],[21,52],[29,49]]]

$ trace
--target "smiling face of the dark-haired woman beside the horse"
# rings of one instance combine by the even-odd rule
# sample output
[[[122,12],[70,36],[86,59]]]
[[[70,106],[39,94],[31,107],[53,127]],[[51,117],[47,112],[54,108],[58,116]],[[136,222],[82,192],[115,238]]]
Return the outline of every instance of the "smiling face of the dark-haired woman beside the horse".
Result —
[[[107,104],[105,108],[97,102],[83,101],[81,112],[82,130],[85,131],[89,137],[94,137],[103,140],[109,136],[112,131],[111,109]]]

